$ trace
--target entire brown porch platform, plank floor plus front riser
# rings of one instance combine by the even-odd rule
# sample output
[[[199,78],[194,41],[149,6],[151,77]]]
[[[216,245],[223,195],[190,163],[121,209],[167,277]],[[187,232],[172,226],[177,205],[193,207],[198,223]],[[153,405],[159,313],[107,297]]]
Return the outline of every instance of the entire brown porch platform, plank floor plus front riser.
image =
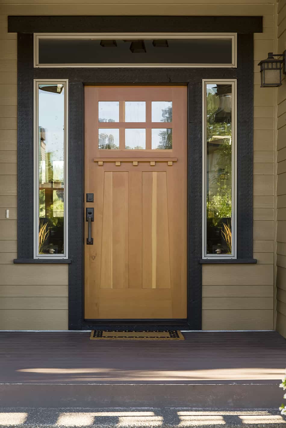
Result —
[[[0,407],[15,400],[28,406],[29,395],[40,405],[47,394],[49,405],[59,400],[61,406],[63,396],[66,405],[143,406],[158,397],[196,407],[251,407],[249,400],[253,407],[276,407],[283,397],[286,340],[276,332],[184,333],[178,342],[91,341],[89,335],[0,333]]]

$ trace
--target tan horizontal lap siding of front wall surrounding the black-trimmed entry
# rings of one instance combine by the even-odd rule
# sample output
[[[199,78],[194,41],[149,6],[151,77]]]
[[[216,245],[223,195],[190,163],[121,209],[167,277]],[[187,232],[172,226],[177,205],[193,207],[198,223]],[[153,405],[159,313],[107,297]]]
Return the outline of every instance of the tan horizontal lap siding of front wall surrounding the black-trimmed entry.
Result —
[[[258,264],[203,266],[203,329],[273,329],[275,92],[274,89],[260,89],[257,63],[269,51],[274,51],[274,1],[111,0],[109,3],[97,0],[92,3],[90,0],[0,0],[0,329],[67,329],[67,265],[12,264],[17,254],[17,41],[16,34],[7,33],[7,15],[111,13],[263,15],[263,33],[254,35],[254,257]],[[285,98],[286,95],[281,102]],[[286,101],[284,104],[283,111],[286,111]],[[285,143],[283,146],[282,142],[280,157],[286,159]],[[284,165],[280,163],[285,172],[285,162]],[[281,182],[282,179],[281,172]],[[284,263],[280,275],[284,275],[285,284],[286,208],[283,211],[282,207],[286,207],[283,205],[286,196],[280,196],[279,200],[282,204],[280,235],[284,233],[285,237],[284,244],[280,245],[280,265]],[[10,209],[9,220],[5,219],[6,208]],[[280,281],[282,283],[282,279]],[[286,294],[285,285],[284,290],[280,289],[281,296]],[[286,302],[285,296],[283,298]],[[284,305],[279,312],[281,320],[286,315],[283,298],[280,298]]]

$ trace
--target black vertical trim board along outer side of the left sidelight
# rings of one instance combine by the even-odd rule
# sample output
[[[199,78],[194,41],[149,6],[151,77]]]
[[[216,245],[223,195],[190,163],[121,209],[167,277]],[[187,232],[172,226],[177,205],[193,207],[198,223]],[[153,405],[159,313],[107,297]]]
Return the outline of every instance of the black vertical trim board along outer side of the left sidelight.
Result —
[[[34,257],[33,35],[18,34],[18,259]]]

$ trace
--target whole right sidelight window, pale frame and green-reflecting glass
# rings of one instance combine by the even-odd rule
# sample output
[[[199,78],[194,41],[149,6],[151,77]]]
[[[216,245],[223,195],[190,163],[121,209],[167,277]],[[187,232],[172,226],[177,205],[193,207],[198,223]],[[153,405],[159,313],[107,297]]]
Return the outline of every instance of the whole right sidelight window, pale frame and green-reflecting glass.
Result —
[[[203,258],[236,258],[236,81],[203,81]]]

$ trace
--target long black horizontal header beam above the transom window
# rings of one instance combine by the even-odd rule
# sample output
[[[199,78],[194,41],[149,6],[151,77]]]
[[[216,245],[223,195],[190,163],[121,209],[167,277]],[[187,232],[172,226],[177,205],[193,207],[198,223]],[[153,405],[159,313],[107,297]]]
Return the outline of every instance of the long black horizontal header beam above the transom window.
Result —
[[[9,16],[9,33],[262,33],[262,16]]]

